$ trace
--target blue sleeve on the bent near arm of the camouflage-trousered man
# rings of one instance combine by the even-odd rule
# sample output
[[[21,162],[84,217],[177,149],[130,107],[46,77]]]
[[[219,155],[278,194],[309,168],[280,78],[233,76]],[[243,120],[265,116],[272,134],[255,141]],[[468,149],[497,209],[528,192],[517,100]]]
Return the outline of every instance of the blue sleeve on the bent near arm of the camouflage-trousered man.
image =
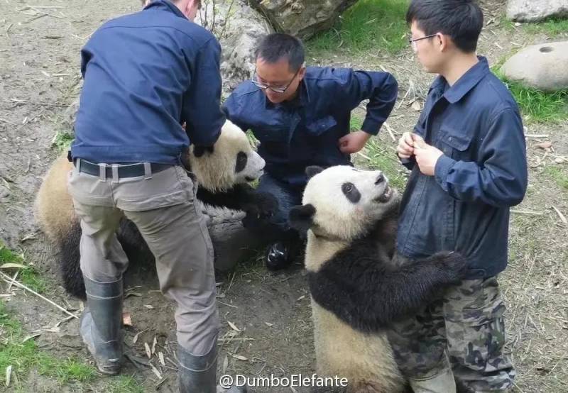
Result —
[[[491,206],[515,206],[527,189],[527,158],[523,123],[517,110],[506,108],[489,121],[478,162],[439,157],[436,182],[455,199]]]

